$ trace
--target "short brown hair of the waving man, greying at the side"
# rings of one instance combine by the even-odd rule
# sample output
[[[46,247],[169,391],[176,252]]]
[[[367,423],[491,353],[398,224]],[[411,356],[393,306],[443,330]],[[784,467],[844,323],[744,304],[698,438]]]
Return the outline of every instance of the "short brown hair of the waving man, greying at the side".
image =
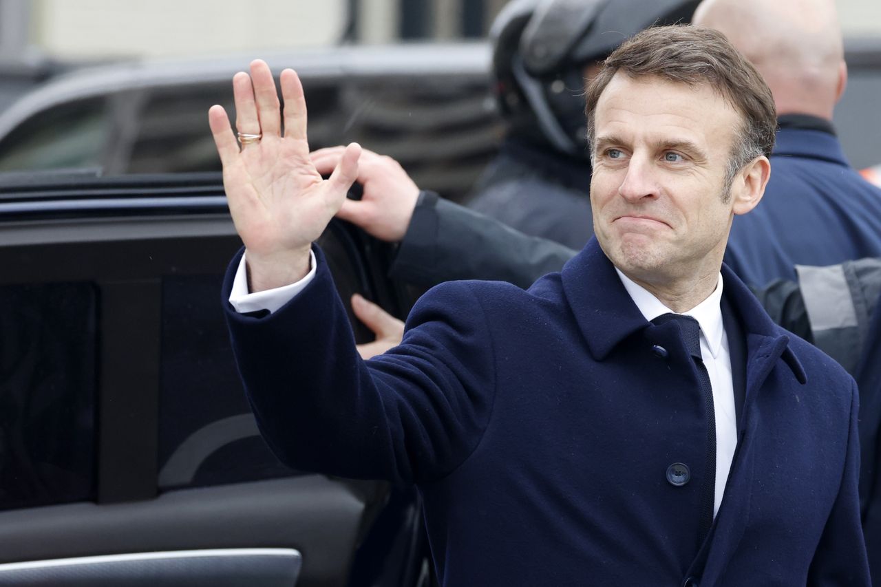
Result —
[[[603,62],[587,89],[588,144],[593,159],[594,115],[611,78],[658,76],[687,85],[707,84],[743,117],[733,145],[726,184],[737,171],[774,148],[777,110],[765,80],[722,33],[691,25],[655,26],[633,35]]]

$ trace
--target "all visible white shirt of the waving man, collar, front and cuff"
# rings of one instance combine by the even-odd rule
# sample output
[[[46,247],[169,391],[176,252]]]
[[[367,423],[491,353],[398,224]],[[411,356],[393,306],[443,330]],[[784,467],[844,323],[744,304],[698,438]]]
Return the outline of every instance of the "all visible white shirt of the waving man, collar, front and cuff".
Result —
[[[270,313],[275,312],[291,301],[294,296],[300,294],[303,288],[315,278],[315,253],[309,251],[309,255],[311,256],[310,270],[306,277],[289,286],[255,294],[248,293],[248,273],[245,269],[245,255],[242,255],[241,263],[233,279],[233,290],[229,296],[230,304],[239,313],[264,309],[269,310]],[[615,271],[618,271],[618,268]],[[654,295],[649,294],[644,287],[627,278],[621,271],[618,271],[618,277],[646,320],[654,320],[662,314],[676,314],[664,306]],[[728,337],[725,336],[725,327],[722,324],[721,273],[719,274],[719,285],[716,286],[713,293],[706,300],[685,312],[685,316],[692,316],[700,324],[700,355],[707,367],[710,384],[713,386],[716,424],[716,479],[715,502],[713,504],[713,515],[715,516],[722,503],[722,495],[725,493],[725,484],[731,470],[731,461],[734,459],[734,450],[737,448],[737,418],[734,409],[734,384],[731,381],[731,357]]]

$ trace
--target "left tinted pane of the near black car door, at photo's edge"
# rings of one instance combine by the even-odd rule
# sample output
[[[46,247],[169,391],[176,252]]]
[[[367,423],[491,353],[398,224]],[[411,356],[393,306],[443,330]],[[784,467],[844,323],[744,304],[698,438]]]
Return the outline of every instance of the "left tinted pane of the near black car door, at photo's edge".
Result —
[[[91,283],[0,286],[0,508],[93,498]]]

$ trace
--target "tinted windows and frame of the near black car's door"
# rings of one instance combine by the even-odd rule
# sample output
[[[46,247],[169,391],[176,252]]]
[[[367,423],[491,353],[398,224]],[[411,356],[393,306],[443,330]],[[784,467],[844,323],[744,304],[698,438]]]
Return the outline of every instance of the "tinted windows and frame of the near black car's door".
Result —
[[[4,222],[0,509],[300,475],[260,438],[235,368],[219,291],[241,241],[226,213],[203,218]],[[355,292],[395,305],[365,238],[335,221],[320,239],[349,316]]]

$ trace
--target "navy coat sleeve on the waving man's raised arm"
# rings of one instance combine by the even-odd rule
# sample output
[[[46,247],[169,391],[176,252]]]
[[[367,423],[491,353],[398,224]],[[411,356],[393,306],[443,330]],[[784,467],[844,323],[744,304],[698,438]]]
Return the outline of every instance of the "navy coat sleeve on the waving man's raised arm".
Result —
[[[241,315],[226,302],[263,438],[303,471],[397,482],[443,477],[477,446],[494,399],[480,302],[468,284],[434,288],[411,311],[402,345],[364,361],[320,249],[315,255],[315,279],[275,313]],[[231,282],[227,272],[225,290]]]

